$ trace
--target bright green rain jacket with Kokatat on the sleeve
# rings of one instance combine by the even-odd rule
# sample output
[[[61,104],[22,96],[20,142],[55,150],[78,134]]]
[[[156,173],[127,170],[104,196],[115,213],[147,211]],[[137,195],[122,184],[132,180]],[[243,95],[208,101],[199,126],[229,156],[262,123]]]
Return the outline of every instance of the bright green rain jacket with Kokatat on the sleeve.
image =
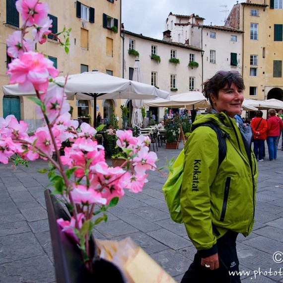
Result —
[[[226,138],[226,157],[218,168],[218,141],[213,121]],[[255,215],[257,162],[251,141],[244,145],[235,120],[223,112],[198,115],[185,144],[181,211],[191,241],[202,257],[217,252],[216,239],[227,230],[247,236]]]

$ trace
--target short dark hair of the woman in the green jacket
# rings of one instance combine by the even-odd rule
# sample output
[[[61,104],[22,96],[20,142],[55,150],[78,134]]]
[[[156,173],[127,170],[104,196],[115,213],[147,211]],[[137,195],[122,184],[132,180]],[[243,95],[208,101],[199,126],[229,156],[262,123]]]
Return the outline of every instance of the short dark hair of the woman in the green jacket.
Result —
[[[204,86],[203,94],[212,105],[211,94],[218,97],[218,91],[227,85],[230,87],[232,83],[239,89],[245,89],[244,80],[238,71],[217,71],[212,78],[202,84]]]

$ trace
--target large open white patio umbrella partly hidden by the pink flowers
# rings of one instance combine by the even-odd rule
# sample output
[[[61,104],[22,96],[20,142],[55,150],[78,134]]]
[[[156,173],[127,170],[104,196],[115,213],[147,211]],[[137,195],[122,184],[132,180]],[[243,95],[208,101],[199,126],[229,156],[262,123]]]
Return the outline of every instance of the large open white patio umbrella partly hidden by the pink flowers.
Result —
[[[64,84],[65,76],[55,78],[58,83]],[[55,87],[54,83],[49,88]],[[35,93],[25,93],[19,90],[18,85],[2,86],[6,95],[34,96]],[[151,99],[162,97],[169,99],[168,91],[157,89],[153,85],[108,75],[99,71],[89,71],[78,74],[71,74],[65,87],[68,99],[90,99],[93,98],[94,125],[96,125],[96,99]]]

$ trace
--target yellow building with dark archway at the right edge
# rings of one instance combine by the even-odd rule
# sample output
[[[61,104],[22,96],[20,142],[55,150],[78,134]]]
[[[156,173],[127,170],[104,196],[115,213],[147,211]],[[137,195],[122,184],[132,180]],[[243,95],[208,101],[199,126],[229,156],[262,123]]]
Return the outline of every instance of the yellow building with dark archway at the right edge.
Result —
[[[225,26],[243,30],[245,98],[283,100],[282,0],[246,0],[233,6]]]

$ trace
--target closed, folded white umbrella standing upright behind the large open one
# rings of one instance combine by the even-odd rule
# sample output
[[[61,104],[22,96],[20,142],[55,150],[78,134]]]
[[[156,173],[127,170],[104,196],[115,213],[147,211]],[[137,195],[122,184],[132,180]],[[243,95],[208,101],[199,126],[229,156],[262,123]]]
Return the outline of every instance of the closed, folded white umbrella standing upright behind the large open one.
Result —
[[[133,72],[133,80],[141,82],[141,67],[140,67],[140,60],[135,61],[134,65],[134,72]],[[133,99],[133,114],[132,114],[132,125],[136,125],[141,127],[142,125],[142,114],[141,114],[141,107],[143,106],[143,99]]]

